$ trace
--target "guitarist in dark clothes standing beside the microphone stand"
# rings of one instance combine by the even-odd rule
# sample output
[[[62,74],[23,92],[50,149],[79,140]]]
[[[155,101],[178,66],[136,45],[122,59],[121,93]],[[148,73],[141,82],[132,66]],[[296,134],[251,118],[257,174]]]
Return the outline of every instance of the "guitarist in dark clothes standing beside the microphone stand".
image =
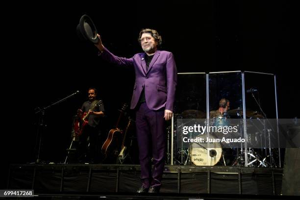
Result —
[[[83,127],[82,134],[79,136],[78,144],[78,160],[79,162],[95,163],[99,161],[100,155],[100,135],[101,135],[101,121],[104,116],[104,106],[103,103],[99,103],[96,100],[97,89],[89,88],[88,90],[88,101],[82,104],[81,109],[78,113],[86,113],[88,117],[85,120],[88,124]],[[97,104],[98,103],[98,104]],[[95,107],[93,110],[91,108]],[[78,115],[80,118],[83,117],[82,114]],[[81,119],[82,120],[82,119]]]

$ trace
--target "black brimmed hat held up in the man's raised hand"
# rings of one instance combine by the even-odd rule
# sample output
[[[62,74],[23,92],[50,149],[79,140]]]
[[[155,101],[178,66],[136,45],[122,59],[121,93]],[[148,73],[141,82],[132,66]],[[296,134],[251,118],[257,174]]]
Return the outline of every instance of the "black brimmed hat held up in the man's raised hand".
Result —
[[[77,25],[77,35],[81,40],[88,40],[92,43],[98,44],[99,38],[97,37],[97,29],[92,19],[83,15]]]

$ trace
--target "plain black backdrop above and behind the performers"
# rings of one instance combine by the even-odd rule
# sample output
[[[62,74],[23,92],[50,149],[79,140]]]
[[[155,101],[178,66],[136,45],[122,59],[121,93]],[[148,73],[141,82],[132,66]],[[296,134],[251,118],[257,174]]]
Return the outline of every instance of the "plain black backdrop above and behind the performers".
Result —
[[[157,29],[163,50],[175,55],[178,72],[254,71],[277,75],[279,118],[299,117],[297,108],[294,5],[287,0],[91,1],[19,4],[13,56],[4,67],[6,117],[1,146],[4,173],[9,163],[36,159],[36,107],[80,93],[46,111],[40,158],[63,162],[70,144],[72,117],[91,86],[99,89],[107,129],[116,123],[122,103],[130,103],[132,69],[101,60],[96,47],[79,41],[76,25],[89,15],[102,42],[116,55],[141,52],[142,28]],[[20,10],[20,11],[19,11]],[[234,108],[232,108],[234,109]],[[8,123],[7,123],[8,122]]]

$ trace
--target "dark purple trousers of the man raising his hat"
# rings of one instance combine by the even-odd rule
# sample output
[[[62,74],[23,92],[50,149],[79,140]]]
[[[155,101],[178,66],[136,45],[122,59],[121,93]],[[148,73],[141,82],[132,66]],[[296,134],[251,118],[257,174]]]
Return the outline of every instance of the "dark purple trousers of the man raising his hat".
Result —
[[[160,187],[161,185],[166,149],[164,112],[164,109],[150,110],[146,102],[141,103],[136,111],[136,134],[141,164],[141,180],[145,188],[150,186]],[[153,157],[152,174],[151,157]]]

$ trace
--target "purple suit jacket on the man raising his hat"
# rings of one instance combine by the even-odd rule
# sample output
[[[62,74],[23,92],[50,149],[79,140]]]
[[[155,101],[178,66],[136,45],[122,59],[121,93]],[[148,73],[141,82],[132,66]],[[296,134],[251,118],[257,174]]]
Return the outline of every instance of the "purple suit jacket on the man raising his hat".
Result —
[[[123,58],[112,54],[104,48],[100,56],[120,66],[134,67],[135,83],[130,105],[131,109],[136,107],[143,88],[145,88],[146,103],[151,110],[164,108],[173,111],[177,84],[177,69],[173,53],[156,50],[148,71],[145,53],[137,53],[132,58]]]

